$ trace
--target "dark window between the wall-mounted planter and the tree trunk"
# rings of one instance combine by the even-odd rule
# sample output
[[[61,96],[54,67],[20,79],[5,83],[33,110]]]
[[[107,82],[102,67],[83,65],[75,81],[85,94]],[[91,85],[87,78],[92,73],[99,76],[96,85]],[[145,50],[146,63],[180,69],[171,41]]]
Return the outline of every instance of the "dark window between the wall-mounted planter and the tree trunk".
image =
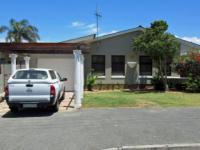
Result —
[[[152,76],[152,59],[149,56],[140,56],[140,75]]]

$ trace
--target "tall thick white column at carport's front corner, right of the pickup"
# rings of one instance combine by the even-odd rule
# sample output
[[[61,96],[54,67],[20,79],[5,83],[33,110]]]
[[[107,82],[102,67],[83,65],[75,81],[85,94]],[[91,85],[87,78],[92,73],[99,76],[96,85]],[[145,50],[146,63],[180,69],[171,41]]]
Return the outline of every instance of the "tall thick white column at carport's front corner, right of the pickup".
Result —
[[[75,108],[81,108],[81,50],[74,50],[75,60],[75,79],[74,79],[74,94]]]

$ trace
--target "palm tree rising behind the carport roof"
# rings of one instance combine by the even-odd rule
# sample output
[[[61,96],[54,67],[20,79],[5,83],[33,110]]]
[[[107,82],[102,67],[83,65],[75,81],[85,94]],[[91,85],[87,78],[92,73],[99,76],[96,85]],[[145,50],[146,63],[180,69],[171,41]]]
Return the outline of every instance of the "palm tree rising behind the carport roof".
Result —
[[[37,42],[39,40],[38,29],[29,24],[28,20],[16,21],[10,20],[6,41],[21,43],[21,42]]]

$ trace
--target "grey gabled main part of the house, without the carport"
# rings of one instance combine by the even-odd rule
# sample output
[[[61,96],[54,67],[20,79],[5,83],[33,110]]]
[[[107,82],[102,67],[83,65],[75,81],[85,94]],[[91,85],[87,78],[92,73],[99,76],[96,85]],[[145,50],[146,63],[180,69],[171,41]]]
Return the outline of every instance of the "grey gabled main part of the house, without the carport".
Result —
[[[97,83],[102,86],[123,85],[135,87],[137,84],[150,84],[155,74],[154,63],[149,56],[133,51],[132,41],[140,34],[143,27],[108,34],[100,37],[89,35],[63,41],[64,43],[84,43],[90,45],[89,53],[85,55],[85,76],[90,72],[98,75]],[[200,49],[200,45],[182,39],[183,55],[191,49]],[[178,79],[180,76],[173,72],[168,62],[168,79]]]

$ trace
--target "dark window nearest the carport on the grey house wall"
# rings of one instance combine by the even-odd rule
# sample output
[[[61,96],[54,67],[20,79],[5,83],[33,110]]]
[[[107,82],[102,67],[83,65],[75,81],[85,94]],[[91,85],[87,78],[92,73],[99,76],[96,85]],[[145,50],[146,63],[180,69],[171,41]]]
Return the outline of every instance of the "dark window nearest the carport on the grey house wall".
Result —
[[[92,55],[92,73],[99,76],[105,75],[105,55]]]

